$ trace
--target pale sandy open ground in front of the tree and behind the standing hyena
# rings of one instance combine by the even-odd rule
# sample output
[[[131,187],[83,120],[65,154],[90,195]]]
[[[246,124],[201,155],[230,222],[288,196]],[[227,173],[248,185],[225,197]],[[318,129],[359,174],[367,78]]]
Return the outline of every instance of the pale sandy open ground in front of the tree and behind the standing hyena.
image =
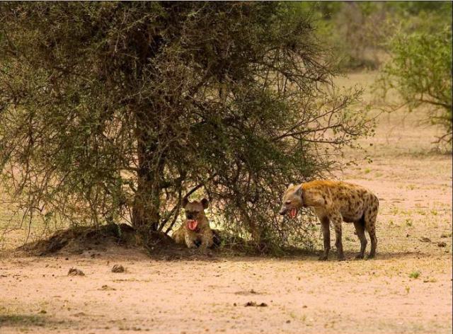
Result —
[[[355,74],[345,83],[370,78]],[[380,117],[376,137],[362,141],[372,144],[373,162],[339,175],[380,199],[375,260],[352,260],[359,242],[349,224],[345,262],[335,252],[328,262],[316,254],[4,255],[0,333],[451,333],[452,157],[432,151],[439,132],[416,126],[420,115]],[[114,264],[126,271],[111,272]],[[71,267],[85,275],[68,276]]]

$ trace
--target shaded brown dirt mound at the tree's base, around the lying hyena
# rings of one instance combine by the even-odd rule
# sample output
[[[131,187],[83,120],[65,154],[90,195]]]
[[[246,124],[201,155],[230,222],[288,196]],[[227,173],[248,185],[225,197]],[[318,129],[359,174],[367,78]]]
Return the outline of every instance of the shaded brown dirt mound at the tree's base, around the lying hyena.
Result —
[[[163,260],[212,258],[213,255],[250,255],[253,248],[241,238],[233,238],[224,231],[214,231],[214,248],[206,252],[188,249],[176,244],[161,232],[143,235],[127,224],[108,224],[98,227],[77,226],[57,231],[45,240],[26,243],[16,248],[28,255],[86,254],[91,257],[101,253],[142,253]]]

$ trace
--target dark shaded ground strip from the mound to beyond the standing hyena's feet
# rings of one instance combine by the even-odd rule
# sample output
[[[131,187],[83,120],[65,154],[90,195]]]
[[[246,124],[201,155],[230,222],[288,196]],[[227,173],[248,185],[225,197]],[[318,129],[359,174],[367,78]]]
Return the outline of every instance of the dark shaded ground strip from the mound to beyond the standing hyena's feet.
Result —
[[[149,234],[147,237],[137,234],[131,226],[126,224],[110,224],[98,228],[74,227],[64,231],[57,231],[50,238],[26,243],[16,248],[16,255],[81,255],[84,253],[121,253],[121,250],[129,250],[131,255],[142,255],[155,260],[205,260],[216,261],[246,260],[259,261],[268,258],[279,260],[304,260],[318,261],[321,250],[304,250],[301,248],[282,248],[275,251],[260,251],[252,246],[247,246],[243,241],[236,243],[224,243],[226,246],[201,251],[188,249],[173,242],[169,236],[163,233]],[[357,252],[345,251],[348,261],[363,261],[355,259]],[[366,256],[366,255],[365,255]],[[396,258],[429,258],[430,255],[417,251],[407,252],[384,252],[378,250],[377,260]],[[365,258],[365,260],[367,260]],[[328,261],[337,261],[335,248],[331,250]]]

